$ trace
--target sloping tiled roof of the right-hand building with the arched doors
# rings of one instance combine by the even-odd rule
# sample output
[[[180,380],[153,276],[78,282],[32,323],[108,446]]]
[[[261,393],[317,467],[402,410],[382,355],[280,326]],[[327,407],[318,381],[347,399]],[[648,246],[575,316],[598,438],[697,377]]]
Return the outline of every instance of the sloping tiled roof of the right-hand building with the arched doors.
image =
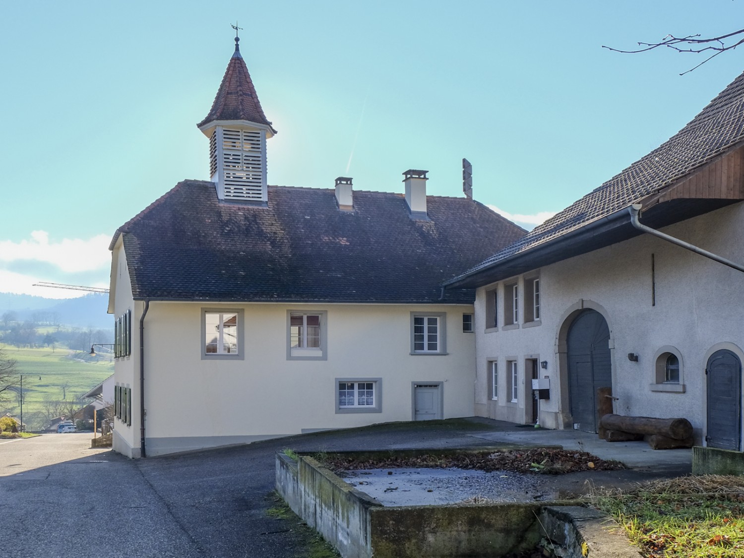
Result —
[[[571,235],[579,229],[596,224],[600,219],[609,218],[621,209],[641,202],[717,155],[739,147],[742,141],[744,141],[744,74],[740,74],[705,109],[702,109],[699,115],[664,144],[534,228],[516,243],[498,251],[478,266],[447,283],[454,286],[486,284],[491,280],[507,277],[510,275],[509,269],[516,275],[527,271],[530,266],[534,269],[540,265],[553,263],[557,261],[557,252],[553,252],[550,258],[534,257],[531,260],[527,253],[540,249],[547,254],[545,244],[568,242],[569,236],[573,239],[575,235]],[[701,202],[700,208],[719,206],[720,204],[705,205],[705,202]],[[667,206],[667,209],[673,211],[679,208],[679,205]],[[681,218],[691,215],[690,211],[679,212]],[[661,219],[659,222],[664,224],[668,221],[669,219]],[[638,234],[638,231],[628,228],[627,234],[609,235],[607,240],[617,242],[635,234]],[[601,243],[587,243],[586,246],[596,249],[601,247]],[[571,257],[582,253],[581,249],[583,248],[577,247],[574,251],[564,250],[562,255],[557,257],[558,259]],[[521,257],[524,265],[510,267],[513,260],[518,257]],[[527,260],[530,260],[530,263],[527,263]],[[503,272],[498,271],[500,266],[504,268]]]

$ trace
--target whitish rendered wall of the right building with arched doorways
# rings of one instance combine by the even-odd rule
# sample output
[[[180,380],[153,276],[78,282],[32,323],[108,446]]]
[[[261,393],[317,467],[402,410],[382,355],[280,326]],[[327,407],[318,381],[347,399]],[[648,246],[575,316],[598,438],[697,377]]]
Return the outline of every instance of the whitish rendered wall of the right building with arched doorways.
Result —
[[[741,231],[744,204],[732,205],[664,229],[674,237],[713,253],[744,262]],[[652,305],[651,254],[655,260],[655,305]],[[532,275],[528,273],[527,276]],[[524,276],[519,277],[522,288]],[[744,274],[693,254],[684,248],[644,234],[632,240],[573,257],[539,269],[541,314],[539,325],[485,330],[488,290],[498,286],[499,308],[504,308],[504,283],[478,289],[475,303],[477,414],[518,423],[531,418],[530,386],[525,385],[525,358],[548,361],[539,376],[551,379],[551,399],[541,402],[540,422],[551,428],[571,427],[565,347],[559,331],[572,314],[594,308],[609,324],[612,350],[612,389],[615,412],[650,417],[685,417],[705,432],[705,366],[716,348],[744,357]],[[522,292],[524,292],[522,290]],[[523,318],[522,318],[523,319]],[[503,321],[500,322],[503,324]],[[656,391],[655,356],[672,346],[682,356],[680,384],[684,393]],[[629,361],[636,353],[638,362]],[[490,400],[488,361],[498,359],[500,383],[507,387],[506,360],[516,359],[520,373],[519,403]],[[562,362],[563,360],[563,362]]]

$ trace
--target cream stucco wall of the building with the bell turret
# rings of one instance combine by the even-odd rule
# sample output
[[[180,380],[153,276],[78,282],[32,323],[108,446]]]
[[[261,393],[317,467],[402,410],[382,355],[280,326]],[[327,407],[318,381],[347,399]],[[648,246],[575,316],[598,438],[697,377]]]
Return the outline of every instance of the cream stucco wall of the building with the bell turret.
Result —
[[[119,252],[120,268],[126,263]],[[116,312],[131,305],[124,274]],[[129,291],[129,292],[127,292]],[[120,300],[121,292],[121,300]],[[116,379],[132,387],[132,426],[117,423],[117,451],[138,457],[138,325]],[[243,310],[242,359],[202,358],[202,309]],[[324,360],[287,359],[287,311],[327,312]],[[446,314],[446,355],[411,355],[411,312]],[[144,321],[147,455],[245,443],[317,429],[411,420],[412,382],[441,382],[443,418],[472,416],[475,335],[468,305],[202,304],[151,301]],[[136,356],[136,359],[135,359]],[[381,412],[337,413],[336,379],[381,381]]]

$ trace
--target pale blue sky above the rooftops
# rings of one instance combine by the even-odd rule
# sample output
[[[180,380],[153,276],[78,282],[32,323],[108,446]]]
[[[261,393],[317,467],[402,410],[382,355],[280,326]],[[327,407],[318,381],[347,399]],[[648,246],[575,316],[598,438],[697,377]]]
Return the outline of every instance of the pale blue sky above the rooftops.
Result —
[[[208,178],[196,129],[241,51],[278,135],[269,183],[474,197],[530,227],[665,141],[734,51],[617,54],[740,28],[741,1],[0,2],[0,292],[107,286],[116,228]],[[734,23],[730,23],[734,22]]]

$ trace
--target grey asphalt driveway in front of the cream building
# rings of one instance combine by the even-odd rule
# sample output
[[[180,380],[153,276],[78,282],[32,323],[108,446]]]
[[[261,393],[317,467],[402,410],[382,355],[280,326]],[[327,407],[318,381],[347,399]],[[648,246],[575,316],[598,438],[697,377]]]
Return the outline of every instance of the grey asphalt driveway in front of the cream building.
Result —
[[[307,529],[266,513],[275,452],[494,446],[476,436],[496,431],[519,432],[485,419],[394,423],[136,461],[89,449],[90,434],[3,440],[0,548],[14,558],[303,557]]]

